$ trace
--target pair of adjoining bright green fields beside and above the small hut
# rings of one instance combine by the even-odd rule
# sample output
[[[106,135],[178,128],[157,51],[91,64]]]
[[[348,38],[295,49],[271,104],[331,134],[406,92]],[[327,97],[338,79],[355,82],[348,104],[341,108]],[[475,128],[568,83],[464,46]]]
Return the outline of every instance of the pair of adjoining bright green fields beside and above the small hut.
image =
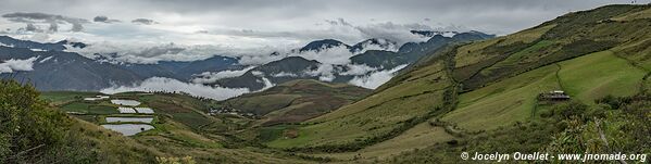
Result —
[[[459,109],[443,121],[473,131],[494,129],[529,118],[540,92],[562,89],[589,104],[606,94],[636,93],[646,74],[611,51],[560,62],[560,67],[563,88],[558,84],[556,65],[548,65],[461,94]]]

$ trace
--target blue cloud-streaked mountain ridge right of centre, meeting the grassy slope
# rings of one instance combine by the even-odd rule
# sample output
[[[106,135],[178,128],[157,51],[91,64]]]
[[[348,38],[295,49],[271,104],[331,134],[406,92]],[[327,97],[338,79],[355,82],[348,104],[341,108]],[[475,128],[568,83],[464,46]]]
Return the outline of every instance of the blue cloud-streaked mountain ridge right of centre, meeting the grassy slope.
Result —
[[[421,59],[422,56],[429,54],[437,49],[452,42],[466,42],[474,40],[484,40],[494,37],[494,35],[487,35],[479,31],[459,33],[453,37],[443,37],[441,35],[435,35],[425,42],[408,42],[402,45],[397,52],[385,51],[385,50],[366,50],[363,53],[359,53],[350,58],[351,64],[365,65],[376,71],[387,71],[395,68],[399,65],[411,64]],[[367,39],[356,43],[354,46],[348,46],[341,41],[334,39],[317,40],[308,43],[308,46],[300,50],[310,51],[323,51],[327,48],[345,47],[352,52],[359,52],[363,48],[362,45],[377,45],[379,47],[388,47],[390,43],[395,43],[386,39]],[[274,61],[256,68],[250,70],[246,74],[239,77],[224,78],[216,83],[209,85],[216,85],[228,88],[249,88],[250,90],[259,90],[264,88],[265,80],[272,84],[281,84],[292,79],[320,79],[323,75],[315,74],[318,72],[318,61],[310,61],[301,56],[288,56],[286,59]],[[283,65],[283,66],[279,66]],[[289,66],[291,65],[291,66]],[[271,68],[273,67],[273,68]],[[346,65],[333,65],[333,72],[336,72],[333,83],[348,83],[353,79],[355,75],[342,75],[337,73],[343,73],[350,68]],[[253,73],[258,73],[254,75]],[[312,73],[312,74],[311,74]],[[283,76],[277,76],[283,75]],[[358,75],[360,76],[360,75]]]

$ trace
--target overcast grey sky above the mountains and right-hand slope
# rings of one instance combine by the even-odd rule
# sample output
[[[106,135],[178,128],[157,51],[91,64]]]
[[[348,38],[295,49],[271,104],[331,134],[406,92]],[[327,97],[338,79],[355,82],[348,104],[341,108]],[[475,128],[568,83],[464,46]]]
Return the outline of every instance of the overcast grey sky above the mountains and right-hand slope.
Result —
[[[638,0],[649,3],[651,0]],[[224,53],[334,38],[413,41],[409,29],[506,35],[571,11],[630,0],[0,0],[0,35]],[[123,46],[114,46],[124,48]]]

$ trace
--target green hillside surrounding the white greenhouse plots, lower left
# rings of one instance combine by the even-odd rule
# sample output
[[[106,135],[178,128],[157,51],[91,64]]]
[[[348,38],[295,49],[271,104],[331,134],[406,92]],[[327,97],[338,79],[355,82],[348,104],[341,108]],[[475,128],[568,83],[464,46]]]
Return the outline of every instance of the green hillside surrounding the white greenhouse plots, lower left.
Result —
[[[98,92],[43,92],[41,98],[53,109],[70,113],[75,119],[72,129],[82,131],[80,138],[96,142],[98,152],[114,161],[109,163],[157,163],[160,157],[180,160],[189,157],[198,163],[304,163],[300,157],[279,153],[263,148],[248,148],[247,142],[230,137],[229,131],[241,129],[251,119],[206,114],[208,109],[216,103],[214,100],[197,99],[184,93],[145,93],[125,92],[111,94],[111,99],[137,100],[138,106],[154,110],[151,130],[125,137],[99,126],[107,123],[107,117],[143,117],[138,114],[121,114],[117,105],[109,100],[86,101]],[[85,121],[82,121],[85,119]],[[127,123],[128,124],[128,123]],[[122,144],[128,143],[129,147]],[[125,151],[124,149],[128,149]],[[101,157],[99,160],[101,160]],[[157,159],[159,157],[159,159]],[[249,159],[249,160],[243,160]],[[118,161],[115,161],[118,160]]]

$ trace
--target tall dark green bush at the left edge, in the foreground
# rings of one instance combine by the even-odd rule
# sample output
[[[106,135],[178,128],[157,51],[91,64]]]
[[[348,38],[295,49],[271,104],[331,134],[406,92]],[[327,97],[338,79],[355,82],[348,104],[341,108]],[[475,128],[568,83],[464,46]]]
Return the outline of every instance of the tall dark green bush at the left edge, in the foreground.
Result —
[[[39,94],[32,85],[0,79],[0,163],[91,163],[86,157],[92,155],[65,151],[83,150],[71,148],[73,119],[49,109]]]

